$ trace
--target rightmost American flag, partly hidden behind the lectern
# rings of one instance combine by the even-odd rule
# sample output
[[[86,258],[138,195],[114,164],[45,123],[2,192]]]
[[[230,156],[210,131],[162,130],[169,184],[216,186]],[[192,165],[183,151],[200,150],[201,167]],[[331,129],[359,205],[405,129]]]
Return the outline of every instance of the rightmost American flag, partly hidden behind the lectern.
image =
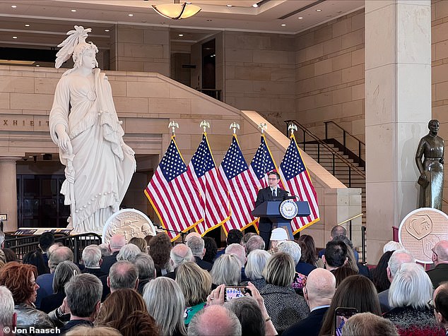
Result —
[[[310,205],[311,214],[307,217],[295,217],[291,221],[294,234],[319,221],[319,207],[317,196],[312,185],[310,174],[300,156],[299,148],[294,136],[291,136],[290,145],[280,164],[279,174],[285,181],[285,189],[291,194],[298,196],[300,200],[306,200]]]

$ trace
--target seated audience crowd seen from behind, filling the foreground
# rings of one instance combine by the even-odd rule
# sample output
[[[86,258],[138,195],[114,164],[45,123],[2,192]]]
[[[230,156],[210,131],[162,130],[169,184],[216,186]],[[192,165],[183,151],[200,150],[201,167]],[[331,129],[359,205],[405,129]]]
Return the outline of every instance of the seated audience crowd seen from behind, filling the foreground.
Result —
[[[0,232],[1,335],[448,335],[448,241],[425,272],[389,242],[375,268],[359,263],[346,230],[323,251],[303,234],[228,232],[226,247],[191,232],[73,251],[40,236],[19,260]],[[350,314],[348,314],[350,312]]]

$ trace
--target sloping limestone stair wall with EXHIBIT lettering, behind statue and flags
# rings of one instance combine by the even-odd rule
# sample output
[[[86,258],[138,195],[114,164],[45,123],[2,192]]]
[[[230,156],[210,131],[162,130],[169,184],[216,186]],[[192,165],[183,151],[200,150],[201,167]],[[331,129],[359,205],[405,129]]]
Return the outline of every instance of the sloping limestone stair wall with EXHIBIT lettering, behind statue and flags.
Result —
[[[47,121],[54,89],[63,72],[64,69],[0,66],[0,157],[20,157],[25,152],[57,154]],[[238,138],[244,157],[248,162],[252,160],[260,141],[258,125],[266,122],[257,112],[242,112],[158,73],[106,71],[106,74],[119,119],[123,121],[124,140],[144,159],[138,161],[138,174],[125,198],[127,206],[143,207],[139,209],[151,216],[143,188],[170,141],[167,128],[170,120],[179,123],[176,140],[186,162],[199,145],[202,133],[199,123],[204,119],[211,124],[208,138],[216,164],[220,164],[230,145],[229,126],[233,121],[241,126]],[[279,164],[289,139],[272,124],[268,126],[268,143]],[[343,186],[306,153],[303,160],[317,190],[322,218],[310,231],[314,232],[317,245],[323,246],[325,229],[328,231],[337,222],[360,212],[360,190]],[[3,194],[8,195],[8,191],[0,188],[0,196]],[[0,212],[1,208],[0,203]],[[17,223],[7,225],[7,229],[14,229]]]

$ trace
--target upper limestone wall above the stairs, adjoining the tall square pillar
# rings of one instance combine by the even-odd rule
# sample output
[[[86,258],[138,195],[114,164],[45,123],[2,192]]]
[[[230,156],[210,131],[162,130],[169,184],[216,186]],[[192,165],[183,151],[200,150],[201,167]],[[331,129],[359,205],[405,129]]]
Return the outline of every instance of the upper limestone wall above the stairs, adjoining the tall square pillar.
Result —
[[[319,137],[333,120],[364,139],[364,10],[295,37],[295,112]],[[286,114],[283,114],[283,117]]]

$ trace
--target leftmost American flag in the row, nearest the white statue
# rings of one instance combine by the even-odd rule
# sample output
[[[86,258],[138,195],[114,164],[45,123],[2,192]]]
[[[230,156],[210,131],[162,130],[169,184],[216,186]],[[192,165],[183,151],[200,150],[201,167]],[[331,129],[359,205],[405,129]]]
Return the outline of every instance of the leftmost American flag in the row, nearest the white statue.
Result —
[[[177,232],[185,232],[202,220],[197,186],[174,136],[145,193],[162,226],[171,230],[167,234],[172,241],[179,236]]]

